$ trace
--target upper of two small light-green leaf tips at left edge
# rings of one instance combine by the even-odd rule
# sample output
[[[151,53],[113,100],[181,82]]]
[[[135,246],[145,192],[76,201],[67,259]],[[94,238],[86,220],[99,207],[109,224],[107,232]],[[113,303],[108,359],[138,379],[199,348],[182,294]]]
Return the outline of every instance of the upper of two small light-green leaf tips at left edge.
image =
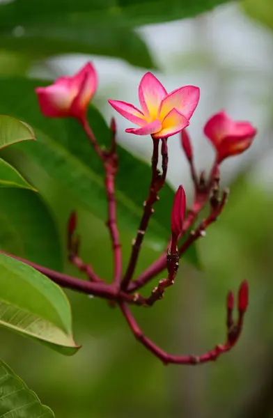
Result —
[[[0,115],[0,149],[31,139],[35,139],[34,132],[27,123],[17,121],[10,116]]]

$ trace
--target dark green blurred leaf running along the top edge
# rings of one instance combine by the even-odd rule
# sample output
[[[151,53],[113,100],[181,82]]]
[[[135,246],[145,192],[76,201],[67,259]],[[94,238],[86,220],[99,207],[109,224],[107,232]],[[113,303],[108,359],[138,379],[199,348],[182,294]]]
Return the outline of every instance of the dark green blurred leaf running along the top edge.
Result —
[[[228,0],[72,0],[65,1],[65,13],[80,20],[122,22],[127,26],[167,22],[193,17],[200,13],[226,3]],[[270,0],[269,0],[270,1]],[[54,10],[54,16],[52,15]],[[13,1],[0,8],[1,24],[24,25],[27,22],[42,22],[52,18],[63,17],[61,2],[47,0],[37,3],[36,0]]]

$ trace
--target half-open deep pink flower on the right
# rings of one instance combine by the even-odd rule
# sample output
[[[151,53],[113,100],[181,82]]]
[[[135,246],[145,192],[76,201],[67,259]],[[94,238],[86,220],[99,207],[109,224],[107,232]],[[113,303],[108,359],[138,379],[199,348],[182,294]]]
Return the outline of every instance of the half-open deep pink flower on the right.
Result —
[[[256,135],[257,130],[249,122],[235,122],[225,111],[212,116],[205,124],[205,136],[217,151],[218,164],[226,157],[243,153]]]

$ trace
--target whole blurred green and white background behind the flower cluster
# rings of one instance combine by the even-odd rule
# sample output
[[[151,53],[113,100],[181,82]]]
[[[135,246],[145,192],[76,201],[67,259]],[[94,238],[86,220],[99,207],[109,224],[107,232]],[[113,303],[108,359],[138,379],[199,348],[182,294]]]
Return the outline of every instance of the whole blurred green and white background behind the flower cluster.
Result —
[[[0,3],[0,113],[29,115],[26,121],[37,123],[38,139],[45,146],[44,154],[31,153],[31,146],[24,152],[22,145],[3,153],[40,196],[1,190],[1,249],[79,275],[65,254],[65,225],[76,209],[81,255],[111,280],[108,233],[86,194],[89,187],[92,201],[92,184],[82,177],[77,189],[77,181],[70,182],[59,171],[63,161],[68,170],[82,162],[75,147],[84,137],[74,135],[74,125],[36,118],[33,85],[38,84],[29,79],[72,74],[91,60],[100,77],[93,102],[107,121],[113,115],[107,98],[137,104],[139,79],[147,70],[153,70],[169,91],[183,84],[201,86],[201,102],[190,127],[199,169],[208,169],[212,160],[202,135],[212,112],[225,107],[259,131],[246,155],[223,165],[222,184],[231,187],[231,196],[217,224],[198,242],[203,271],[181,263],[176,286],[162,302],[153,309],[134,309],[145,332],[164,349],[203,353],[224,341],[226,293],[248,279],[251,303],[240,342],[214,364],[165,367],[134,340],[118,309],[68,291],[75,339],[83,345],[74,357],[1,330],[0,357],[56,417],[273,417],[272,29],[272,0]],[[118,116],[117,121],[120,144],[148,162],[150,141],[128,138],[123,131],[129,125]],[[56,137],[49,137],[44,125],[56,130]],[[55,152],[58,158],[53,161]],[[75,171],[74,180],[79,173]],[[127,181],[126,171],[120,176]],[[129,180],[132,190],[139,187],[137,177]],[[185,185],[191,201],[178,137],[170,141],[168,180],[172,187]],[[145,199],[145,186],[138,196]],[[171,203],[162,199],[160,204],[167,225]],[[133,229],[123,229],[125,260],[133,237]],[[158,256],[162,242],[157,244],[152,238],[146,242],[138,272]]]

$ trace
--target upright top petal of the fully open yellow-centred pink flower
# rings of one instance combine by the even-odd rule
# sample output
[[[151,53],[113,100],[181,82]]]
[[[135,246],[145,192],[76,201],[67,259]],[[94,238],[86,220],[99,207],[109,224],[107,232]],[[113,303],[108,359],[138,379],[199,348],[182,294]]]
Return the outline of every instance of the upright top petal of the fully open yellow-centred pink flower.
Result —
[[[139,84],[139,102],[146,118],[157,118],[160,103],[167,95],[166,89],[151,72],[143,75]]]

